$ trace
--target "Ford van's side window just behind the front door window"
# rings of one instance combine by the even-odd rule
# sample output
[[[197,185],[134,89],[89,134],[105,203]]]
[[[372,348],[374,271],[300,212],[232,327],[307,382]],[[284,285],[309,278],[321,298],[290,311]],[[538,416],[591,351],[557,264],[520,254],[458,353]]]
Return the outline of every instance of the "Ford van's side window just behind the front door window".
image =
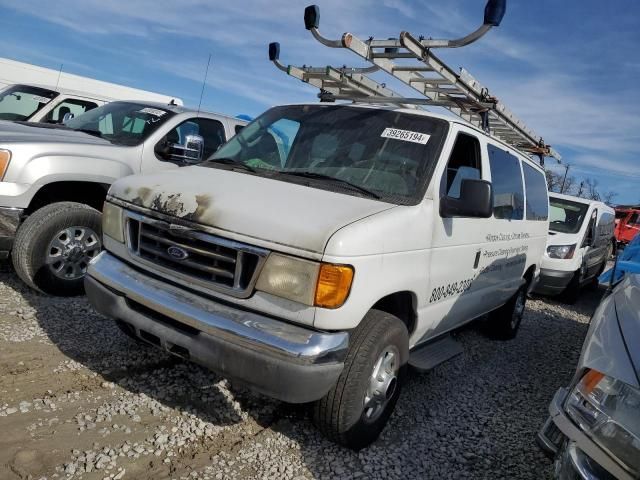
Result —
[[[504,220],[522,220],[524,188],[520,160],[494,145],[489,145],[488,150],[493,185],[493,215]]]

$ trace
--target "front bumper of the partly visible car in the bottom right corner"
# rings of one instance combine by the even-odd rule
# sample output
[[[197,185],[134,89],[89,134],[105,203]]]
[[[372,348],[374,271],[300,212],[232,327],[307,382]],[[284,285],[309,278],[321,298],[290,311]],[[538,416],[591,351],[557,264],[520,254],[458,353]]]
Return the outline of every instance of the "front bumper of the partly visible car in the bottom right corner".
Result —
[[[556,458],[560,480],[633,480],[618,462],[591,440],[567,417],[567,390],[559,389],[549,405],[549,419],[538,433],[538,443]]]

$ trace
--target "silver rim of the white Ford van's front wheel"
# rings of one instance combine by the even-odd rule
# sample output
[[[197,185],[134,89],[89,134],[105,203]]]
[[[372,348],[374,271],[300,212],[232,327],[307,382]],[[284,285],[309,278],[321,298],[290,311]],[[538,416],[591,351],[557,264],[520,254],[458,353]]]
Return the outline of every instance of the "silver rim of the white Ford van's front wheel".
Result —
[[[376,360],[369,378],[364,397],[365,421],[373,422],[384,412],[396,391],[399,370],[400,352],[395,346],[390,345]]]

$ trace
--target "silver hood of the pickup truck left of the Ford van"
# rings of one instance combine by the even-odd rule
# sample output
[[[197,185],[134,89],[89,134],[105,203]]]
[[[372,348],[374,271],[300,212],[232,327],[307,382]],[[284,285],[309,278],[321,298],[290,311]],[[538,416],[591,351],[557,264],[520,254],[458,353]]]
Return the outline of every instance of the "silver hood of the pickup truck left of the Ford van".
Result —
[[[75,143],[111,145],[108,140],[56,125],[0,121],[0,144],[6,143]]]

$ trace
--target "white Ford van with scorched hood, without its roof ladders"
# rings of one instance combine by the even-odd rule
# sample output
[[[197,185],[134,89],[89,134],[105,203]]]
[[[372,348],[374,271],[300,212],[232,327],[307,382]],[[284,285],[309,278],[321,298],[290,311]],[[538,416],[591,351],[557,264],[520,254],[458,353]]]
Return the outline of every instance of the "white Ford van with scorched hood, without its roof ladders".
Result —
[[[516,335],[548,206],[543,170],[462,120],[280,106],[199,166],[116,182],[85,287],[129,335],[315,402],[362,448],[448,332],[491,312]]]

